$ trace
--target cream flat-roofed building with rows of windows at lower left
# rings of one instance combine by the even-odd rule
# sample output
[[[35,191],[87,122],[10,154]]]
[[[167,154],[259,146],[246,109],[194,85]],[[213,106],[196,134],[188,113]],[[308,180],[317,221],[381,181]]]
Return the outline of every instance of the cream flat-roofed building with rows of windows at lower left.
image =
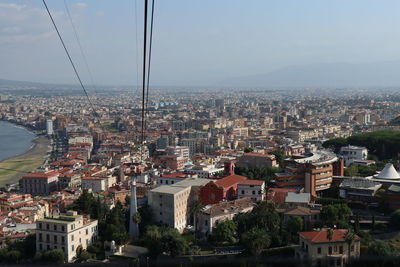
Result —
[[[36,251],[61,249],[68,262],[78,249],[86,249],[96,238],[97,220],[78,215],[76,211],[36,221]]]

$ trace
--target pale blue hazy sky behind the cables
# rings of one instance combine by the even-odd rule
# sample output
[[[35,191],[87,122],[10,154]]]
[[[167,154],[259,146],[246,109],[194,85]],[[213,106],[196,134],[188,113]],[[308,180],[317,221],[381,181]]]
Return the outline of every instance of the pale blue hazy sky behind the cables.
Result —
[[[90,83],[64,1],[47,2]],[[95,83],[136,84],[135,0],[67,3]],[[399,14],[398,0],[156,0],[151,81],[213,85],[290,65],[400,60]],[[76,84],[42,1],[0,0],[0,78]]]

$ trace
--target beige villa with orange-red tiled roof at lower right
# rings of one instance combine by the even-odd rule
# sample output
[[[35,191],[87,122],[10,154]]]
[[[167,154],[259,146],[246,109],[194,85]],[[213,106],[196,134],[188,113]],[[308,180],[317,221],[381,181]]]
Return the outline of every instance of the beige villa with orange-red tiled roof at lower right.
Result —
[[[311,266],[345,266],[351,259],[360,257],[360,238],[356,235],[349,244],[347,230],[332,229],[299,233],[296,258],[310,260]]]

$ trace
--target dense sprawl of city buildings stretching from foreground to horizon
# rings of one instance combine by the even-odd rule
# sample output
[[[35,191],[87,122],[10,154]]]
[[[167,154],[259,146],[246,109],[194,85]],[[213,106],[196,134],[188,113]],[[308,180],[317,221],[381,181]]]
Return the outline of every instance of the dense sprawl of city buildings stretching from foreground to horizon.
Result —
[[[399,130],[399,96],[391,90],[337,95],[323,89],[157,90],[149,99],[144,145],[140,102],[126,90],[91,96],[96,110],[84,96],[61,89],[51,97],[46,90],[28,95],[29,90],[1,88],[0,119],[46,136],[48,152],[36,170],[16,174],[18,183],[4,183],[2,247],[34,233],[37,253],[59,249],[66,262],[99,241],[108,242],[101,248],[108,256],[128,255],[128,240],[101,238],[100,232],[108,231],[100,227],[103,217],[77,209],[86,194],[108,211],[127,210],[123,228],[133,242],[146,231],[140,227],[144,215],[135,217],[142,209],[154,225],[207,240],[222,222],[255,212],[260,203],[274,203],[281,224],[301,221],[288,241],[298,244],[293,257],[343,266],[362,254],[362,237],[357,232],[349,241],[349,225],[380,218],[386,227],[388,212],[400,207],[395,162],[371,158],[374,151],[364,146],[344,144],[337,151],[323,146],[328,140]],[[371,175],[351,172],[380,162],[384,165]],[[323,223],[327,203],[320,199],[358,206],[349,204],[346,225],[329,225]],[[369,213],[360,212],[360,205]],[[373,210],[381,205],[388,212]]]

